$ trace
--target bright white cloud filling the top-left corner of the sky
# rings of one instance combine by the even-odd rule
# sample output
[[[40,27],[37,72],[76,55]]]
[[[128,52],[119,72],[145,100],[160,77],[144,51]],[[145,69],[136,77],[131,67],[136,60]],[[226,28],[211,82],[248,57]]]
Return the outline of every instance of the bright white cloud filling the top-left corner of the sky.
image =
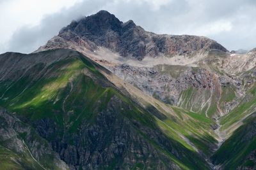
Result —
[[[45,15],[69,8],[80,0],[9,0],[0,2],[0,52],[7,50],[10,37],[28,25],[39,25]]]

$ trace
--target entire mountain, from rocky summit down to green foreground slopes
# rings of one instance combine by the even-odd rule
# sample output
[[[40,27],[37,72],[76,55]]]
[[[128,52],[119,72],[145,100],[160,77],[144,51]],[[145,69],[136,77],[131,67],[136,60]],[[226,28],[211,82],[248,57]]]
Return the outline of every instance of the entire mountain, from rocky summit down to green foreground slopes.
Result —
[[[256,50],[108,11],[0,55],[0,169],[256,169]]]

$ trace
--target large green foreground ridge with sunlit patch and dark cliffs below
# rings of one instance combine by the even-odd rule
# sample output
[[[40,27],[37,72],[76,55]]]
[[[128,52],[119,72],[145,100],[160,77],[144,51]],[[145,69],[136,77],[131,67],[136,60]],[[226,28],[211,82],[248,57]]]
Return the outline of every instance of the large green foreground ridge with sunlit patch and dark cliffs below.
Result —
[[[60,54],[66,56],[58,57]],[[4,74],[0,81],[0,106],[31,124],[69,166],[86,167],[88,163],[81,160],[88,159],[93,167],[102,169],[142,168],[142,164],[154,169],[168,169],[174,164],[182,169],[209,169],[195,149],[175,132],[179,130],[191,138],[188,132],[196,131],[198,137],[191,141],[200,146],[200,138],[204,138],[200,135],[204,133],[199,133],[196,123],[202,118],[186,112],[191,118],[188,121],[191,128],[182,131],[181,121],[176,123],[161,113],[157,117],[125,97],[80,53],[54,50],[33,57],[25,56],[34,62],[28,67]],[[44,62],[44,57],[49,61]],[[26,59],[20,59],[20,64]],[[205,124],[211,122],[203,119]],[[175,131],[170,127],[175,127]],[[199,129],[205,136],[209,135],[202,127]],[[126,137],[120,137],[125,134]],[[119,138],[124,141],[116,141]],[[214,143],[213,138],[207,138],[205,143]],[[114,149],[116,145],[118,148]],[[104,159],[84,157],[84,150]]]

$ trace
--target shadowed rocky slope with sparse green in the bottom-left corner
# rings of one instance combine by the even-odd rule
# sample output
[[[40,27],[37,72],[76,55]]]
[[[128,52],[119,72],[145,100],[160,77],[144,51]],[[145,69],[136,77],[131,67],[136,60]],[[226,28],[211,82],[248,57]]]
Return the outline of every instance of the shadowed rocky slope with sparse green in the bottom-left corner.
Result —
[[[35,129],[0,110],[1,169],[67,169]]]

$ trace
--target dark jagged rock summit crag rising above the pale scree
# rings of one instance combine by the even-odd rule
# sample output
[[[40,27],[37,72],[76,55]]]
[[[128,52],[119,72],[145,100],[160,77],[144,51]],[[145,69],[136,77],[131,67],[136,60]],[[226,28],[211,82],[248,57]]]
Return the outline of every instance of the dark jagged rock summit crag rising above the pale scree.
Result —
[[[97,50],[99,46],[104,46],[123,57],[130,56],[138,60],[145,56],[196,55],[212,49],[227,52],[223,46],[209,38],[157,35],[145,31],[132,20],[120,22],[108,11],[99,11],[95,15],[73,21],[38,51],[56,46],[75,48],[74,50],[80,47],[82,50],[84,47],[88,50]]]

